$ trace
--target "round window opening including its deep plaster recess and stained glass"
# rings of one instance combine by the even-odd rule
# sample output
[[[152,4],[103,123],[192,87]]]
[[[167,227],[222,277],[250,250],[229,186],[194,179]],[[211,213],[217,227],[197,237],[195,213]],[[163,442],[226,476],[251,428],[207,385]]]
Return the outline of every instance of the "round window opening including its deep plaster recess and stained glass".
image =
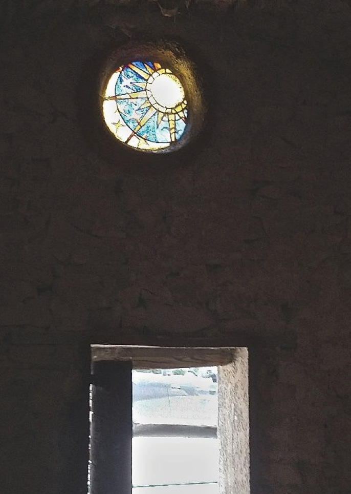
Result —
[[[185,149],[203,129],[201,81],[178,43],[120,46],[109,54],[99,75],[100,147],[109,157],[116,145],[124,155]]]

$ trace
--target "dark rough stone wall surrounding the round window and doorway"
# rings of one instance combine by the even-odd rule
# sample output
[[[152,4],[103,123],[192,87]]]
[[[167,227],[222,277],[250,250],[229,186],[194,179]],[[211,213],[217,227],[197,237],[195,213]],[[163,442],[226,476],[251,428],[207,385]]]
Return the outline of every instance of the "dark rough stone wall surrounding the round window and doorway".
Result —
[[[252,493],[348,494],[347,4],[1,9],[1,492],[84,492],[89,342],[196,341],[249,346]],[[87,61],[140,31],[210,80],[205,138],[152,174],[76,112]]]

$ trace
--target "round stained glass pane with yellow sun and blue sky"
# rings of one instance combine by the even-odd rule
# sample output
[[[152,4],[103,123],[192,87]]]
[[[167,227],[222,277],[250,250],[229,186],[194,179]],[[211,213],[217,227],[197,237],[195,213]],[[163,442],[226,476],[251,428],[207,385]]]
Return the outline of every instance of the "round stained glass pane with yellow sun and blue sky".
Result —
[[[188,103],[180,79],[156,61],[133,61],[109,78],[103,95],[108,129],[125,145],[158,151],[180,141]]]

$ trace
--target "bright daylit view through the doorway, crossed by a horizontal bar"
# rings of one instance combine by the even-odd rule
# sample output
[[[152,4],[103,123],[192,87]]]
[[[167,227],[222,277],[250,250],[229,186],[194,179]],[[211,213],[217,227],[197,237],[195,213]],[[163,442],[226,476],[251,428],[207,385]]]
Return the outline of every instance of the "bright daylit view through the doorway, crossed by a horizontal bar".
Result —
[[[133,370],[133,494],[218,494],[217,367]]]

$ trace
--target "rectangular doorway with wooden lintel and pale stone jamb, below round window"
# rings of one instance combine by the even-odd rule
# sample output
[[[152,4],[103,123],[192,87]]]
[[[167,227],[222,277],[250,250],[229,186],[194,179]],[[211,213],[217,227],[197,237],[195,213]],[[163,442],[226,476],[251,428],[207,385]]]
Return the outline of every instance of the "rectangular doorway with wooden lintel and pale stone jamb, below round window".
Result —
[[[249,494],[247,348],[92,357],[90,494]]]

